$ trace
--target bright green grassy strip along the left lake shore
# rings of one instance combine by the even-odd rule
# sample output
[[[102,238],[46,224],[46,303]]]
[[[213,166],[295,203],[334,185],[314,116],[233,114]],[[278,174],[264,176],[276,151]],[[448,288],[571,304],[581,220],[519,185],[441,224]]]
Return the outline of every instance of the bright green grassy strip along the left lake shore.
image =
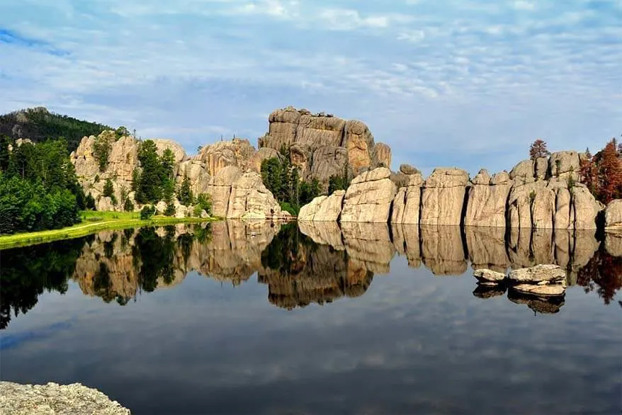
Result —
[[[91,212],[80,213],[82,222],[71,227],[50,229],[38,232],[24,232],[19,234],[1,235],[0,249],[30,246],[60,239],[74,239],[84,237],[95,232],[113,229],[126,229],[149,225],[166,225],[178,223],[202,223],[219,220],[214,217],[169,217],[154,216],[148,220],[140,219],[140,212]]]

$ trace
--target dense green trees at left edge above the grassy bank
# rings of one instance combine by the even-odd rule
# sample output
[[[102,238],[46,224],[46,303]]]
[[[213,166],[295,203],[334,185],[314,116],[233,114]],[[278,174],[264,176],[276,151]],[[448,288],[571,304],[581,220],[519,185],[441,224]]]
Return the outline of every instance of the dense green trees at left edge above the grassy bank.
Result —
[[[71,226],[85,207],[66,140],[17,146],[0,135],[0,234]]]

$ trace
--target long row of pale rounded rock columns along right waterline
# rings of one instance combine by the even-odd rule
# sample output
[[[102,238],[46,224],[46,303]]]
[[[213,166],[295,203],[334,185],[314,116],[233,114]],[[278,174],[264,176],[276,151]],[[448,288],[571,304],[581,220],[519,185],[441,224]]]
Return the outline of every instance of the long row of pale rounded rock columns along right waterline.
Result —
[[[578,182],[577,171],[577,152],[521,161],[509,174],[502,171],[490,176],[482,169],[473,179],[455,168],[434,169],[425,181],[411,166],[401,166],[397,174],[379,168],[354,178],[341,212],[333,196],[324,196],[302,207],[300,220],[596,229],[596,217],[604,206]],[[326,210],[332,215],[317,214]],[[618,210],[612,203],[606,216],[608,226],[619,222]]]

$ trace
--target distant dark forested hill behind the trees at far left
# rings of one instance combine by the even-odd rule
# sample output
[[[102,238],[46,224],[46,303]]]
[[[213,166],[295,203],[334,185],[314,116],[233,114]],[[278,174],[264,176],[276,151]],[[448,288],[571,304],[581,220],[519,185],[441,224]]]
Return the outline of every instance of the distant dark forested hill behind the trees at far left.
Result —
[[[8,135],[13,139],[29,138],[33,142],[64,137],[70,152],[77,149],[82,137],[99,135],[103,130],[114,129],[108,125],[50,113],[44,107],[27,108],[0,115],[0,135]]]

